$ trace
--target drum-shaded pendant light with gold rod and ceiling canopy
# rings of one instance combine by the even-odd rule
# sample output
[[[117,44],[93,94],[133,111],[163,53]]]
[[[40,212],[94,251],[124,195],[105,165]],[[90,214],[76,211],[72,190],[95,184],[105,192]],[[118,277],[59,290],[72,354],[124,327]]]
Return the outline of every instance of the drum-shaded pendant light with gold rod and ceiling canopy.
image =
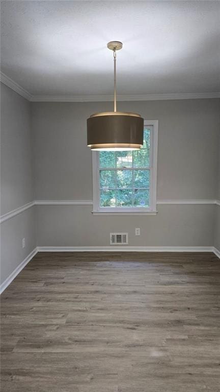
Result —
[[[139,150],[143,145],[144,119],[140,114],[117,111],[116,51],[122,42],[111,41],[114,53],[114,111],[95,113],[87,120],[87,145],[96,151]]]

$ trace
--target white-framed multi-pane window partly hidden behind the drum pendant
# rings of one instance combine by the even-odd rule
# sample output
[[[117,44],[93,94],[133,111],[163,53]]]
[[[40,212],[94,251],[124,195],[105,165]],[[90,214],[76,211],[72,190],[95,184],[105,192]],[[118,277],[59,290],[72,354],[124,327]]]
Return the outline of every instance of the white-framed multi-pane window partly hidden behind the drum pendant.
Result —
[[[145,120],[138,151],[92,151],[93,213],[156,213],[158,121]]]

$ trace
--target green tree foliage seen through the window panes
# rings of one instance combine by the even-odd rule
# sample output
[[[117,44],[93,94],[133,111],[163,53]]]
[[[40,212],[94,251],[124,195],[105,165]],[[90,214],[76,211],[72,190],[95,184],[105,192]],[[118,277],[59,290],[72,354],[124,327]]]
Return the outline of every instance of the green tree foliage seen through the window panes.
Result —
[[[99,152],[100,207],[149,206],[150,130],[139,151]]]

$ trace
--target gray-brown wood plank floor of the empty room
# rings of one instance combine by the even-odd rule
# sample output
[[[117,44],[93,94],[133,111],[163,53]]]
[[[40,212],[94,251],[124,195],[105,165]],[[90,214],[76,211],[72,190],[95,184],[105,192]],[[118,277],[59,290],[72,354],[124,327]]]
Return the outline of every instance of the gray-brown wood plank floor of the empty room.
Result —
[[[38,253],[2,294],[2,392],[219,392],[213,253]]]

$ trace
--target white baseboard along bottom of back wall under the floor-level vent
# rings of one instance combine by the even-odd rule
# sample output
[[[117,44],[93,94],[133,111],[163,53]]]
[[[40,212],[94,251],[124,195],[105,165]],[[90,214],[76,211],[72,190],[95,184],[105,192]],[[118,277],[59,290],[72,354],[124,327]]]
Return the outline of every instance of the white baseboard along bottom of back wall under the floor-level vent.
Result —
[[[39,252],[213,252],[213,246],[38,246]]]

